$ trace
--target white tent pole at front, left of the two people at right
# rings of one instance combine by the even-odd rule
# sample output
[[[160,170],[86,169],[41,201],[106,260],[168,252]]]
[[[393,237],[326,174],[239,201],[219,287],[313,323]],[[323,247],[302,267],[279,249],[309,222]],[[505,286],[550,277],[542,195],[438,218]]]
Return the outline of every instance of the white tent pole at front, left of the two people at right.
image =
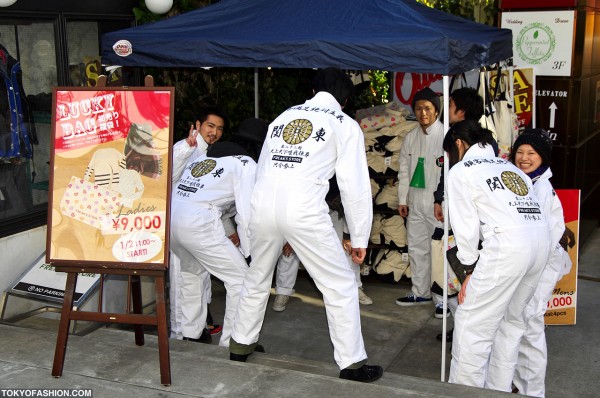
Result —
[[[442,78],[442,83],[444,85],[444,134],[450,128],[450,87],[449,87],[449,77],[448,75],[444,75]],[[440,374],[440,380],[442,382],[446,381],[446,330],[447,330],[447,317],[446,313],[448,311],[448,260],[446,259],[446,250],[448,249],[448,190],[446,189],[447,181],[448,181],[448,154],[444,151],[444,202],[443,202],[443,210],[444,210],[444,294],[442,297],[443,303],[443,315],[442,315],[442,368]]]

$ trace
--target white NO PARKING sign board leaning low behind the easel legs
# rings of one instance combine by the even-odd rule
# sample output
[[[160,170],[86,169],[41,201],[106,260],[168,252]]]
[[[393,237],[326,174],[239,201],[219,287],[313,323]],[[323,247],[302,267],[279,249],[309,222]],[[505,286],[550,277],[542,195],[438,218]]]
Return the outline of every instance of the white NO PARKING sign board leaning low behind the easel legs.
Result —
[[[15,283],[11,292],[21,296],[36,297],[42,300],[62,302],[67,284],[67,273],[56,272],[54,267],[45,263],[46,254],[42,254],[25,274]],[[79,273],[73,300],[77,305],[85,297],[100,274]]]

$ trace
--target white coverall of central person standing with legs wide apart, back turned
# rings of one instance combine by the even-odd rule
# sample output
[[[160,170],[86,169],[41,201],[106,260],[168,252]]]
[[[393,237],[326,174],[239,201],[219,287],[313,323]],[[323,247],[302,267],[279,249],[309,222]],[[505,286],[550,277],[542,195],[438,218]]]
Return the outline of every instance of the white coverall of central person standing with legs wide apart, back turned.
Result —
[[[269,126],[252,196],[252,264],[233,339],[258,341],[273,270],[288,242],[323,294],[334,358],[340,368],[366,360],[358,288],[325,195],[336,174],[352,247],[366,248],[373,217],[364,138],[335,98],[319,92]]]

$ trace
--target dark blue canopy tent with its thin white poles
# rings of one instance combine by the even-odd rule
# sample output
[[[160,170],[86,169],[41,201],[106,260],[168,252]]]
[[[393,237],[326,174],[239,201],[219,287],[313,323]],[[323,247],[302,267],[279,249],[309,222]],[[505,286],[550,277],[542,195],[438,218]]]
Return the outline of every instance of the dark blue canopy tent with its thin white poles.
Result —
[[[512,57],[512,31],[414,0],[222,0],[102,36],[104,63],[154,67],[325,68],[449,75]],[[258,73],[255,71],[255,85]],[[255,90],[255,96],[258,91]],[[258,117],[258,100],[255,113]],[[444,112],[448,129],[448,112]],[[444,162],[446,175],[448,162]],[[444,245],[448,216],[445,212]],[[448,264],[445,260],[444,274]],[[444,305],[447,301],[444,287]],[[443,317],[446,334],[446,317]],[[441,380],[445,380],[446,341]]]

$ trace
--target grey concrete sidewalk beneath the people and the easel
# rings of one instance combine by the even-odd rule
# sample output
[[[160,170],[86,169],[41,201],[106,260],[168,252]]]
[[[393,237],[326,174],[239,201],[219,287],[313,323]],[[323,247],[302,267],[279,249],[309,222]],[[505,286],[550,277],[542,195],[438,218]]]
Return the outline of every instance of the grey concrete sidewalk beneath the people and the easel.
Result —
[[[600,230],[580,250],[577,325],[547,328],[549,364],[547,397],[600,396],[600,320],[596,295],[600,287]],[[395,299],[407,282],[387,284],[364,279],[374,303],[361,306],[362,330],[369,363],[384,376],[362,384],[338,379],[325,310],[320,294],[300,272],[296,293],[284,312],[270,308],[261,343],[267,353],[247,363],[228,360],[226,349],[213,344],[170,341],[172,385],[160,384],[156,337],[137,347],[127,329],[101,327],[85,336],[70,336],[63,377],[50,375],[56,344],[55,314],[15,325],[0,325],[1,388],[91,388],[94,397],[496,397],[508,394],[440,381],[441,343],[435,336],[442,321],[433,305],[399,307]],[[225,292],[213,284],[211,312],[222,320]],[[452,318],[448,318],[451,324]],[[451,325],[449,325],[451,326]],[[449,369],[446,352],[446,375]]]

